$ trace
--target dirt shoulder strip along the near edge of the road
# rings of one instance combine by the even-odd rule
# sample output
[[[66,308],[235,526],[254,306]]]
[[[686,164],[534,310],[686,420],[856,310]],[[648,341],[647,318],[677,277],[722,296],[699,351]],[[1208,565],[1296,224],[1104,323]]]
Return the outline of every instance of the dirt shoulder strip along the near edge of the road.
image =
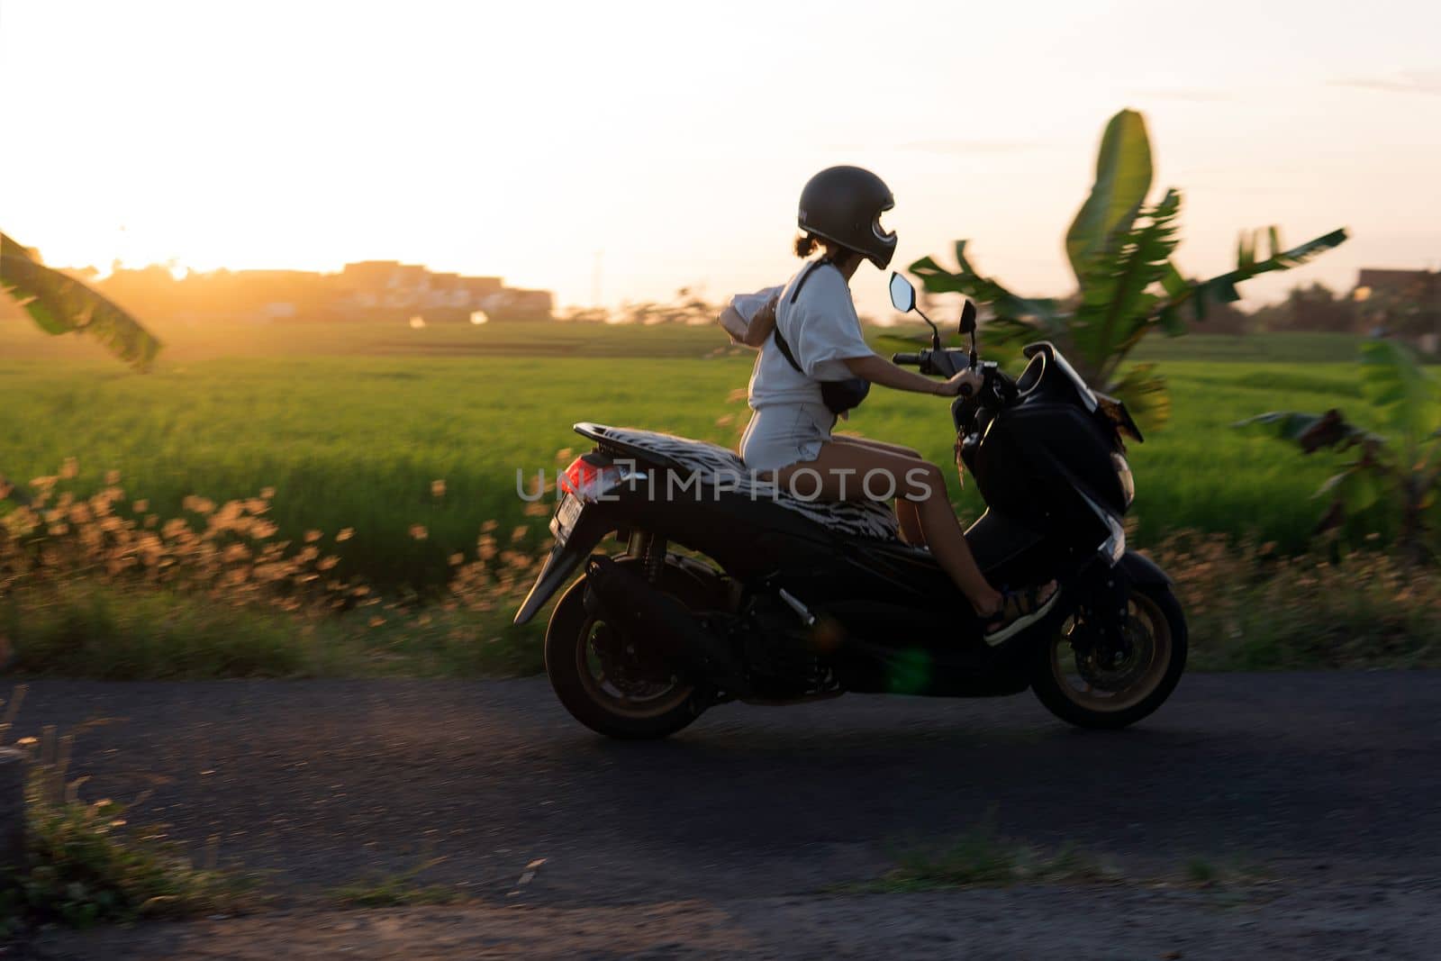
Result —
[[[1434,958],[1441,880],[280,912],[50,934],[37,958]]]

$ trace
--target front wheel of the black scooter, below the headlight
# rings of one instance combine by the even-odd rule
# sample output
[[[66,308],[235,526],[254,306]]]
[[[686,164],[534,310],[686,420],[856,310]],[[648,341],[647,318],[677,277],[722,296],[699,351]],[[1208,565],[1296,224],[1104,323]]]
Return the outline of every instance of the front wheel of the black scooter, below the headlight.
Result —
[[[1169,585],[1131,592],[1118,644],[1076,645],[1084,630],[1069,618],[1036,648],[1030,686],[1055,716],[1078,728],[1125,728],[1176,690],[1186,670],[1186,615]]]

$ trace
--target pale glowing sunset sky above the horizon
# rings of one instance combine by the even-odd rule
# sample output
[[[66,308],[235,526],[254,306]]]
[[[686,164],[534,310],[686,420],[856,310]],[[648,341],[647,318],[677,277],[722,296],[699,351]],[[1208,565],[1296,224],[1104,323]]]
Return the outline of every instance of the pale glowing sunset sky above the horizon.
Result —
[[[1143,109],[1182,267],[1353,241],[1295,281],[1441,267],[1441,4],[0,0],[0,226],[50,264],[403,259],[588,304],[784,280],[833,163],[898,264],[971,238],[1022,292]],[[879,311],[883,278],[855,287]]]

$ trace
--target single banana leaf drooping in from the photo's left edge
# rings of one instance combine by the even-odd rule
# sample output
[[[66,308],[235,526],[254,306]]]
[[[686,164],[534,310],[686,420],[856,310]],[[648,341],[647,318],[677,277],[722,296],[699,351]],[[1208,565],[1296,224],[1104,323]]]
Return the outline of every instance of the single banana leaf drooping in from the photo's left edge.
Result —
[[[0,288],[48,334],[85,333],[137,370],[160,353],[160,340],[127,311],[72,277],[37,262],[0,233]]]

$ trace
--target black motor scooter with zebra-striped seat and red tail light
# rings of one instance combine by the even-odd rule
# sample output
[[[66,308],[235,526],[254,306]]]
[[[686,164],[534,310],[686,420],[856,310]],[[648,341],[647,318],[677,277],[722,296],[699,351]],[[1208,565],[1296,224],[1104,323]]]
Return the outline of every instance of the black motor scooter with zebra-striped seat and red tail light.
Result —
[[[898,274],[891,297],[915,310]],[[957,465],[987,504],[967,542],[996,586],[1055,579],[1049,615],[989,643],[931,553],[899,539],[886,504],[807,500],[804,483],[777,490],[715,444],[582,422],[595,450],[559,480],[555,546],[516,614],[529,621],[585,563],[545,638],[550,684],[578,720],[663,738],[728,700],[1030,687],[1074,725],[1124,728],[1170,696],[1186,618],[1166,573],[1125,549],[1134,486],[1123,438],[1141,441],[1125,406],[1091,390],[1050,343],[1027,346],[1014,379],[980,363],[970,303],[960,324],[970,352],[944,349],[925,320],[931,347],[896,363],[984,375],[951,405]],[[592,553],[610,535],[625,550]]]

